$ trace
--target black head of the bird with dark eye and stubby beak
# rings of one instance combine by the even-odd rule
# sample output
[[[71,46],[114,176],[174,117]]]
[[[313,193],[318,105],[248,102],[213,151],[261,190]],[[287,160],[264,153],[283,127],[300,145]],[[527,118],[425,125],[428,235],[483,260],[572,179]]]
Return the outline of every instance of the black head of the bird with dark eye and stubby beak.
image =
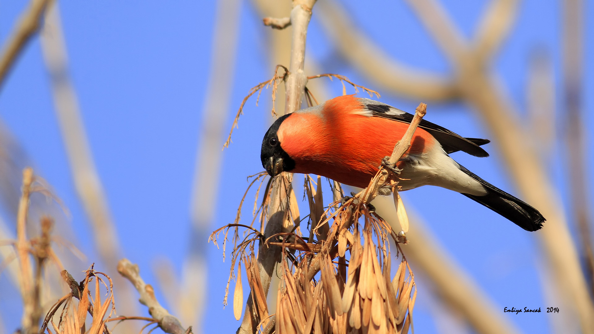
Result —
[[[289,172],[295,168],[295,160],[291,159],[287,152],[280,147],[279,136],[277,136],[280,124],[289,116],[290,114],[287,114],[277,119],[266,131],[264,140],[262,140],[260,160],[271,177],[276,177],[281,172]]]

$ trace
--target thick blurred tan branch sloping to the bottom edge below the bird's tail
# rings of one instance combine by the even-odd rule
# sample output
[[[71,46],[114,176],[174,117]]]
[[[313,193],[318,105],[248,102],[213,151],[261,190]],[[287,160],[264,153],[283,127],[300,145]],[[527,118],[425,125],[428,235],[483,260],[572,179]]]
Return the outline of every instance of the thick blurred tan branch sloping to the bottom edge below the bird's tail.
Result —
[[[377,197],[372,202],[375,212],[390,223],[394,231],[400,231],[396,207],[389,197]],[[410,229],[406,237],[410,242],[402,245],[406,258],[413,269],[421,269],[434,286],[433,291],[447,305],[465,317],[476,333],[520,333],[509,322],[497,305],[482,291],[479,285],[468,276],[452,259],[453,257],[431,236],[421,219],[410,214]]]

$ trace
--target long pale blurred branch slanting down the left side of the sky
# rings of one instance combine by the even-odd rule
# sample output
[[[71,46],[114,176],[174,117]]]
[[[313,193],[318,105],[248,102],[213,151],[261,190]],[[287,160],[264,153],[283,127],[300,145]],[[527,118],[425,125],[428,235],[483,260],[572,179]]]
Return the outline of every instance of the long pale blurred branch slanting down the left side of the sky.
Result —
[[[67,52],[57,2],[48,8],[41,37],[43,57],[52,83],[56,114],[74,185],[93,229],[97,253],[106,267],[106,272],[115,273],[118,259],[121,257],[121,248],[109,213],[108,201],[89,149],[77,97],[69,78]],[[137,304],[134,303],[134,294],[129,285],[125,284],[119,275],[110,276],[113,277],[115,291],[119,296],[118,310],[126,314],[137,313]]]

